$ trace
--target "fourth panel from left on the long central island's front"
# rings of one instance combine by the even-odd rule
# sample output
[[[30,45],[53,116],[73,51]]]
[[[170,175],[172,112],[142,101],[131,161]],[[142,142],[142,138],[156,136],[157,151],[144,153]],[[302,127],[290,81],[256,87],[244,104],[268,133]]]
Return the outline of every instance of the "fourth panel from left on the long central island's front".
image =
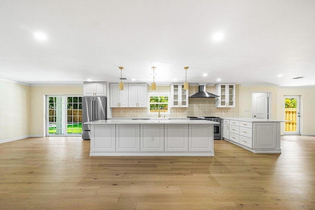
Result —
[[[188,151],[188,125],[164,125],[164,151]]]

